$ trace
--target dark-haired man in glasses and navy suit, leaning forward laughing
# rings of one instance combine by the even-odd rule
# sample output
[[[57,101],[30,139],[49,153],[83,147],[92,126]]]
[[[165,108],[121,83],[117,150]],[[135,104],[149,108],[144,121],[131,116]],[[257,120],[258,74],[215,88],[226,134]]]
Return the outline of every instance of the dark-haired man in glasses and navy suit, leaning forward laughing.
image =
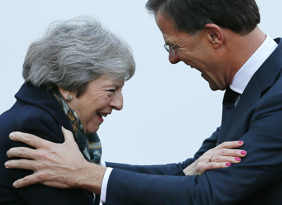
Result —
[[[257,27],[260,15],[254,0],[149,0],[146,7],[155,15],[169,61],[183,61],[199,70],[212,90],[226,89],[221,127],[183,164],[138,167],[106,163],[114,167],[106,169],[72,153],[68,158],[73,157],[73,164],[65,165],[64,172],[57,164],[65,160],[67,147],[75,146],[70,138],[65,144],[53,144],[14,133],[10,135],[13,140],[51,150],[56,156],[50,159],[56,166],[51,173],[37,161],[11,160],[7,168],[32,167],[36,172],[14,186],[41,182],[98,194],[102,189],[106,191],[101,201],[106,204],[282,204],[281,38],[274,41]],[[244,141],[248,151],[244,160],[229,168],[184,176],[187,165],[231,140]],[[24,150],[21,155],[18,151],[13,148],[8,155],[46,158],[36,151],[28,154]],[[179,176],[167,176],[171,172]]]

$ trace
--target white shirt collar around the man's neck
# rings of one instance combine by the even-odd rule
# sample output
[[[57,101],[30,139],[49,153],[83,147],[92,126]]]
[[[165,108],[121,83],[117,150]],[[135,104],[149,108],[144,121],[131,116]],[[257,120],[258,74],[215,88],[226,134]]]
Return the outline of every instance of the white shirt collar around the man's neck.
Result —
[[[268,34],[266,34],[266,39],[263,41],[261,46],[234,75],[230,88],[237,93],[242,94],[251,80],[251,77],[277,46],[278,44]]]

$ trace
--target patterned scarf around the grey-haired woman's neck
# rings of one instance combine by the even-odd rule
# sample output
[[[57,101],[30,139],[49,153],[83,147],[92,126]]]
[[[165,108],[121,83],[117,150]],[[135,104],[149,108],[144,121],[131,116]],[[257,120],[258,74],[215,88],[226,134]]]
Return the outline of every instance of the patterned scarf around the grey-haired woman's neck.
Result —
[[[85,147],[83,153],[90,162],[101,164],[102,147],[98,135],[96,133],[85,134],[76,112],[68,106],[58,93],[53,93],[53,95],[59,101],[61,107],[66,113],[66,116],[70,120],[70,124],[75,132],[75,138],[78,146]]]

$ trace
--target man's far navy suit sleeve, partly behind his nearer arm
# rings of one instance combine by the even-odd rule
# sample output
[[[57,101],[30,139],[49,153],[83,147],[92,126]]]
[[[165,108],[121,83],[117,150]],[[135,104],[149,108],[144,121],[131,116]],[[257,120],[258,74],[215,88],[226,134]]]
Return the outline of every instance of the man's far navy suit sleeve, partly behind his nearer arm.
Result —
[[[194,158],[189,158],[182,163],[166,164],[166,165],[127,165],[119,163],[106,162],[107,167],[118,168],[122,170],[127,170],[131,172],[150,174],[150,175],[178,175],[182,174],[182,170],[192,164],[200,156],[202,156],[206,151],[216,146],[216,142],[219,136],[220,127],[212,134],[211,137],[206,139],[201,148],[194,155]]]

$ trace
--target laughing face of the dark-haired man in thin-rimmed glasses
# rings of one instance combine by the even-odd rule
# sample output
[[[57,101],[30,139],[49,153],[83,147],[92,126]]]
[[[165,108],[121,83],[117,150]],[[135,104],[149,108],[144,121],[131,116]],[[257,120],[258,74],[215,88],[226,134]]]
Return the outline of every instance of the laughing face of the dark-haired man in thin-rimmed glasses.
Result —
[[[189,33],[179,31],[174,27],[173,21],[168,20],[161,13],[157,12],[155,20],[159,26],[166,44],[173,46]],[[169,62],[176,64],[183,61],[185,64],[200,71],[201,76],[208,81],[212,90],[224,90],[226,84],[223,73],[218,68],[216,60],[218,57],[214,53],[214,48],[209,43],[207,33],[202,31],[198,36],[189,36],[176,46],[174,55],[169,54]]]

